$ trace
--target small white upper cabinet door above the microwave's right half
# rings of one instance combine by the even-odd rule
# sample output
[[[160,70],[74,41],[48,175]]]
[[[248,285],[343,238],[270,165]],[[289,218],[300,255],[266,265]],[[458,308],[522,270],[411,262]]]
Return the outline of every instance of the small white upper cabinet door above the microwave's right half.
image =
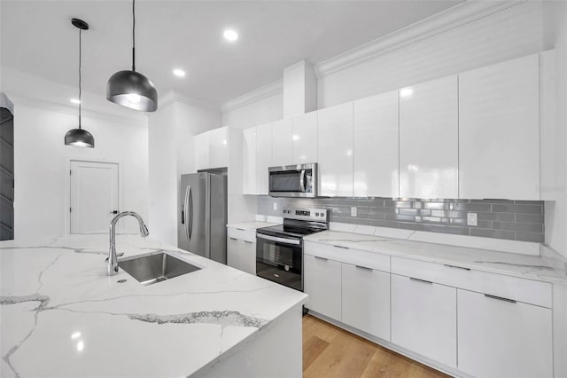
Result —
[[[317,112],[293,119],[293,164],[317,162]]]

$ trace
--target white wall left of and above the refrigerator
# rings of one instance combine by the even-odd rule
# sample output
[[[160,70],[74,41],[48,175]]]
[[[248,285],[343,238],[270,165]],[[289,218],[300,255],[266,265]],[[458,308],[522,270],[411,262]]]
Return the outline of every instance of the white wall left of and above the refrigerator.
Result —
[[[173,101],[148,124],[151,236],[176,246],[180,176],[195,172],[193,136],[221,127],[221,111]]]

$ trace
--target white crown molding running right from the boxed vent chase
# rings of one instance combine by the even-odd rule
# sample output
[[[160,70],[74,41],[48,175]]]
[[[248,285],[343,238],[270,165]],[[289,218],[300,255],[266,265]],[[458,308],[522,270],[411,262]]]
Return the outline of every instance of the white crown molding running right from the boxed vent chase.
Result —
[[[315,65],[317,78],[334,74],[347,67],[352,67],[365,60],[384,55],[410,44],[423,41],[432,36],[445,33],[454,28],[480,20],[496,12],[509,9],[527,0],[476,1],[468,0],[455,5],[444,12],[439,12],[423,20],[419,20],[406,28],[401,28],[369,43],[345,51],[333,58]]]

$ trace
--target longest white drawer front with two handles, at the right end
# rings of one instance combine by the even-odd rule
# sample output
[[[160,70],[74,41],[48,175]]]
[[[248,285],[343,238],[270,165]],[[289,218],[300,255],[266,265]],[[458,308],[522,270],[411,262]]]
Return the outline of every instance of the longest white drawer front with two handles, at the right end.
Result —
[[[392,256],[392,273],[551,308],[551,284]]]

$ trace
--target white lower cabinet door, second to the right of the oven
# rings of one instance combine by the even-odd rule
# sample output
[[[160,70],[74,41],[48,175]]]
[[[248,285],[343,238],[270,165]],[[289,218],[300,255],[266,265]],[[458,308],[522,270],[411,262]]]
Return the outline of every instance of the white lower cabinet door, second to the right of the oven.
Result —
[[[390,340],[390,273],[342,266],[343,323]]]

